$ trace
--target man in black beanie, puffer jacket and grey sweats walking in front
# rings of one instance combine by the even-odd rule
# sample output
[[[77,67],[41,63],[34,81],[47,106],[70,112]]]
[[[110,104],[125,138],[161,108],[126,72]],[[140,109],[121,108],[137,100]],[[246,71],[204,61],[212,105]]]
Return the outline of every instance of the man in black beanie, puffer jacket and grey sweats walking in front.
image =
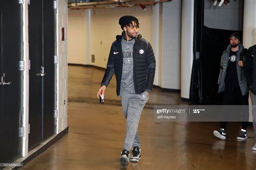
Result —
[[[131,148],[130,161],[138,162],[141,157],[138,124],[152,89],[156,60],[150,43],[138,32],[139,21],[136,17],[123,16],[119,19],[119,24],[123,32],[112,43],[107,69],[97,96],[99,98],[100,93],[104,94],[115,73],[117,96],[121,97],[126,119],[126,135],[120,163],[127,166]]]

